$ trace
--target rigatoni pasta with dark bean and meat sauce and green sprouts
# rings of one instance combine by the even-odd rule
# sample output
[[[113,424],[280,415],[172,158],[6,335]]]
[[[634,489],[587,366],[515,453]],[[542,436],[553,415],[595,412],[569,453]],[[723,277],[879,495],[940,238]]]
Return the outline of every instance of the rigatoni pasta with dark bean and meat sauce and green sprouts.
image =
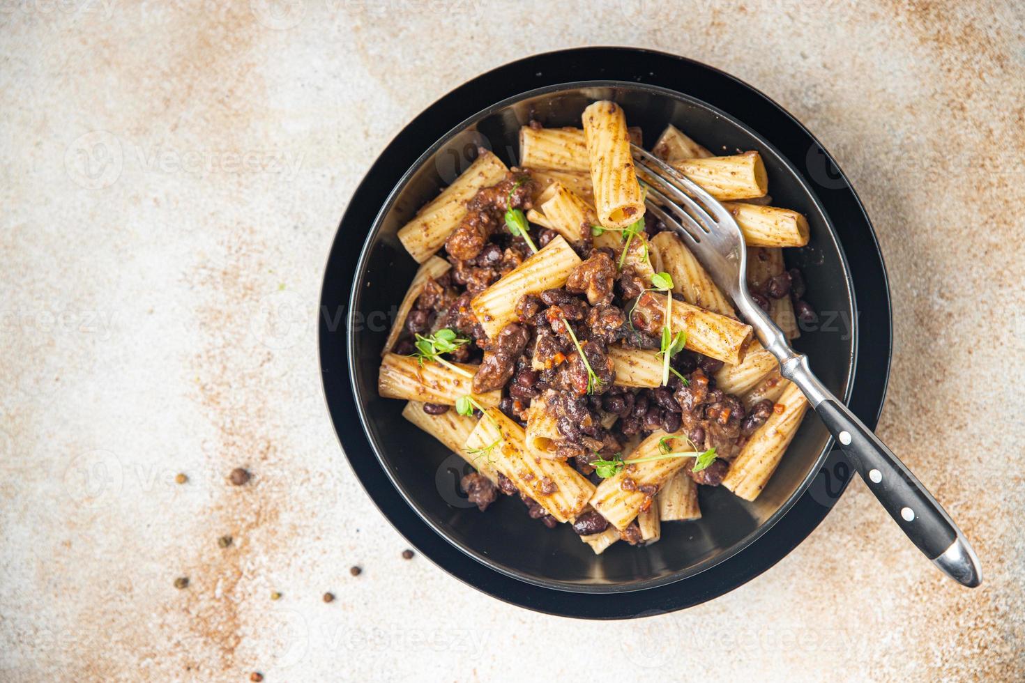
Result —
[[[808,409],[684,243],[646,215],[630,144],[597,101],[579,128],[531,121],[519,166],[474,163],[399,230],[419,263],[378,390],[471,467],[480,510],[518,496],[596,553],[701,516],[699,486],[753,501]],[[782,248],[808,244],[771,205],[757,152],[713,155],[672,125],[652,153],[730,210],[758,304],[789,338],[812,319]]]

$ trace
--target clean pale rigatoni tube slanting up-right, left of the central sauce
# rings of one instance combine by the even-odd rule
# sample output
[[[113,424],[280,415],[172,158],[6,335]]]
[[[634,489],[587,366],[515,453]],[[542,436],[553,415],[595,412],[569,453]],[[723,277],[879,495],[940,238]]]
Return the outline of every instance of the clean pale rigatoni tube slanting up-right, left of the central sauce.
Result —
[[[469,305],[481,327],[493,339],[502,328],[516,319],[516,304],[520,297],[562,287],[578,265],[580,257],[565,238],[557,237],[474,297]]]

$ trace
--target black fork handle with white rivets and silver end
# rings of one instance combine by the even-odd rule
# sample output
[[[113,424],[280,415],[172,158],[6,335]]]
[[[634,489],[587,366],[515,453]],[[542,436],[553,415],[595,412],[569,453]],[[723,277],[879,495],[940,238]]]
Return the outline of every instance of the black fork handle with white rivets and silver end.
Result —
[[[808,396],[826,428],[901,530],[941,571],[969,588],[982,582],[968,539],[911,471],[808,368],[804,355],[781,364],[781,374]]]

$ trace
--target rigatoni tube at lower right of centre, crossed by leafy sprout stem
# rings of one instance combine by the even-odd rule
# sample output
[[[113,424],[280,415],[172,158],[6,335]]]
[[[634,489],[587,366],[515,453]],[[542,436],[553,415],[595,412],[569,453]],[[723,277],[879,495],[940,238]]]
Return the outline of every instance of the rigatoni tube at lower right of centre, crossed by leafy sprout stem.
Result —
[[[626,460],[660,455],[659,439],[664,436],[666,434],[662,431],[653,433],[641,441]],[[669,436],[671,447],[686,447],[684,444],[687,440],[682,434]],[[697,455],[695,453],[695,456]],[[649,498],[642,490],[639,490],[639,487],[661,486],[669,480],[669,477],[681,471],[688,460],[691,459],[682,457],[652,460],[645,463],[628,463],[619,472],[598,485],[598,490],[590,499],[590,505],[609,520],[610,524],[623,530],[638,516]],[[623,488],[623,482],[627,478],[632,480],[633,485]],[[649,501],[648,504],[651,502]]]

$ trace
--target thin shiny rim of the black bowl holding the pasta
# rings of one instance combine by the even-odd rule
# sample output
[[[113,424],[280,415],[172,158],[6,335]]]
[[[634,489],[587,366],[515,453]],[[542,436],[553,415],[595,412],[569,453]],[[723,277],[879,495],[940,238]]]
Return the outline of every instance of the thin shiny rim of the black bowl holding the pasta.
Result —
[[[789,160],[786,157],[784,157],[774,144],[772,144],[768,139],[766,139],[755,130],[753,130],[750,126],[739,121],[738,119],[728,114],[727,112],[724,112],[723,110],[713,106],[698,97],[694,97],[693,95],[687,95],[685,93],[658,85],[630,83],[621,80],[573,81],[568,83],[549,84],[538,88],[534,88],[532,90],[521,92],[519,94],[511,95],[497,102],[494,102],[491,105],[477,112],[473,116],[466,117],[465,119],[460,121],[457,125],[453,126],[448,131],[446,131],[444,135],[438,138],[419,157],[417,157],[416,161],[402,174],[401,178],[388,193],[387,198],[385,199],[380,209],[378,210],[376,216],[374,217],[370,229],[367,231],[367,234],[363,241],[363,246],[360,250],[360,256],[359,259],[357,260],[356,270],[354,273],[353,288],[350,293],[348,309],[354,312],[360,310],[359,304],[361,302],[361,299],[363,298],[364,293],[366,292],[366,288],[357,287],[356,282],[360,278],[360,274],[365,272],[365,269],[368,265],[368,261],[371,258],[371,252],[374,246],[375,238],[380,232],[382,224],[385,218],[387,217],[387,214],[392,211],[396,202],[399,201],[403,193],[406,190],[410,179],[416,173],[418,173],[424,167],[424,165],[428,164],[440,150],[442,150],[446,144],[448,144],[456,135],[459,135],[460,133],[468,130],[470,127],[480,123],[488,116],[498,111],[501,111],[511,104],[515,104],[519,101],[543,95],[554,96],[562,92],[584,89],[584,88],[615,88],[615,89],[642,91],[656,95],[661,95],[671,99],[682,100],[692,105],[704,109],[713,114],[714,116],[719,117],[720,119],[728,121],[729,124],[732,124],[733,126],[753,136],[757,140],[760,150],[764,150],[771,153],[773,156],[775,156],[782,162],[786,172],[789,175],[791,175],[799,185],[801,191],[810,198],[811,203],[815,206],[815,209],[823,216],[828,231],[827,237],[829,240],[832,241],[833,247],[840,258],[843,282],[845,284],[845,289],[847,292],[848,305],[850,306],[851,311],[858,310],[854,284],[851,278],[850,264],[848,263],[847,255],[844,250],[843,244],[839,241],[835,226],[833,225],[828,212],[825,210],[825,207],[820,202],[814,189],[809,185],[807,179],[797,171],[796,168],[794,168],[794,166],[789,162]],[[747,533],[746,536],[735,542],[729,548],[721,552],[717,552],[712,557],[705,558],[704,560],[697,562],[696,564],[693,564],[691,566],[688,566],[685,569],[673,571],[663,577],[656,577],[644,581],[637,581],[629,584],[616,584],[616,583],[580,584],[575,582],[540,579],[531,575],[530,573],[521,571],[515,566],[509,566],[507,564],[489,558],[484,553],[481,553],[475,550],[474,548],[469,547],[468,545],[454,539],[450,535],[445,525],[438,523],[430,518],[430,516],[420,505],[416,497],[414,497],[407,489],[406,485],[403,483],[403,480],[399,476],[396,469],[388,463],[387,459],[384,457],[383,455],[384,449],[381,446],[381,444],[378,443],[377,438],[374,435],[374,431],[371,428],[371,423],[373,422],[373,419],[372,416],[368,415],[368,412],[366,411],[365,408],[367,396],[361,389],[361,383],[357,381],[359,364],[356,362],[356,357],[355,357],[356,353],[355,338],[359,334],[359,332],[356,330],[356,326],[353,324],[353,322],[354,318],[350,317],[348,325],[346,326],[346,337],[347,337],[346,345],[348,349],[348,375],[355,396],[355,401],[354,401],[355,408],[357,411],[357,415],[359,416],[360,419],[360,424],[363,427],[364,434],[366,435],[367,440],[371,444],[371,449],[374,453],[374,456],[377,458],[377,461],[383,468],[392,484],[399,490],[402,498],[405,500],[406,504],[409,505],[416,512],[416,514],[420,517],[420,519],[422,519],[428,526],[430,526],[430,528],[435,532],[442,536],[446,541],[452,544],[455,548],[457,548],[467,557],[470,557],[471,559],[481,562],[485,566],[500,571],[512,579],[518,579],[520,581],[534,584],[542,588],[569,591],[573,593],[633,592],[658,586],[673,584],[675,582],[694,577],[698,573],[701,573],[702,571],[707,571],[715,567],[716,565],[723,563],[724,561],[730,559],[731,557],[734,557],[741,551],[743,551],[752,543],[761,539],[780,519],[782,519],[783,516],[787,512],[789,512],[789,510],[797,502],[801,496],[803,496],[804,493],[811,485],[812,481],[818,474],[819,469],[822,467],[822,463],[825,462],[825,459],[828,457],[829,452],[832,450],[833,446],[832,436],[827,436],[818,455],[815,456],[815,458],[809,465],[808,471],[802,478],[801,483],[793,489],[790,496],[788,496],[787,499],[780,504],[780,506],[776,509],[776,511],[773,512],[768,517],[768,519],[766,519],[764,522],[754,527],[749,533]],[[852,315],[851,325],[852,325],[852,330],[851,330],[852,340],[851,340],[850,355],[847,358],[844,394],[843,394],[843,400],[845,403],[848,402],[848,400],[850,399],[851,390],[854,386],[854,381],[857,374],[857,355],[858,355],[858,338],[859,338],[857,315]],[[638,552],[644,552],[644,549],[638,549]]]

